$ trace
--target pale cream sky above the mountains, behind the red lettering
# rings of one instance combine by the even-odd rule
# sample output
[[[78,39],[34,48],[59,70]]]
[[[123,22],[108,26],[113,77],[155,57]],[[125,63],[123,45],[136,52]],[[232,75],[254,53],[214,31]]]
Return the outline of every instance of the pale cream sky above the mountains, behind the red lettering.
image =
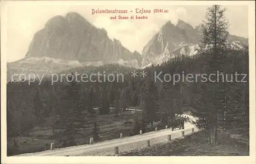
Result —
[[[86,18],[97,28],[104,28],[108,36],[121,41],[122,45],[130,51],[142,52],[143,46],[156,34],[166,21],[171,20],[176,24],[182,19],[191,26],[199,25],[205,16],[207,6],[81,6],[43,3],[12,3],[8,5],[7,13],[7,62],[16,61],[25,57],[33,35],[45,27],[46,22],[55,15],[65,16],[68,12],[77,12]],[[227,8],[226,18],[229,20],[229,33],[242,37],[248,37],[248,8],[247,6],[225,6]],[[132,10],[132,13],[124,16],[140,15],[135,14],[136,8],[168,9],[168,13],[147,13],[142,14],[148,19],[139,20],[111,20],[110,16],[124,14],[93,14],[92,9],[119,9]]]

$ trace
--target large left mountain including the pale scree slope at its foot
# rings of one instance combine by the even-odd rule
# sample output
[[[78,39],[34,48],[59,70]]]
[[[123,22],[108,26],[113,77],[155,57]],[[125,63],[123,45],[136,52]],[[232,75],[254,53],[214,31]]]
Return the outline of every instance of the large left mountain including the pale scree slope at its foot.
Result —
[[[72,67],[118,63],[141,66],[141,54],[111,40],[104,29],[97,29],[76,12],[54,16],[38,31],[26,57],[7,63],[8,80],[13,74],[51,74]]]

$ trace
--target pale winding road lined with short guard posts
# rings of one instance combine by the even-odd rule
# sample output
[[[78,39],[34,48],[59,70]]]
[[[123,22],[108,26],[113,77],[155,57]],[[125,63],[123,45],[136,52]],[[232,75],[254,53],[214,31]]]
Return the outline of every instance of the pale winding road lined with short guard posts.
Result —
[[[195,121],[195,118],[191,115],[183,114],[182,116],[189,116],[189,119]],[[143,133],[140,135],[117,138],[112,140],[106,140],[104,142],[96,143],[93,145],[80,145],[67,148],[60,148],[54,150],[47,150],[36,153],[20,154],[17,156],[104,156],[114,155],[114,148],[118,147],[119,153],[125,151],[131,151],[134,149],[141,149],[147,147],[147,140],[150,140],[150,144],[154,145],[157,143],[167,142],[167,136],[171,135],[171,138],[181,137],[181,132],[184,131],[185,135],[191,133],[191,129],[194,131],[198,129],[189,122],[184,124],[184,129],[163,129],[159,131],[153,131]]]

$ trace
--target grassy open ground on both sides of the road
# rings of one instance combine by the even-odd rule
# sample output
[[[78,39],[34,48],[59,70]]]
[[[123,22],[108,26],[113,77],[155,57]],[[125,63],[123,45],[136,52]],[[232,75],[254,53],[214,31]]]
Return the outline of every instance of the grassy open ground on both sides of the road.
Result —
[[[136,111],[138,112],[138,111]],[[82,135],[76,137],[76,145],[89,144],[92,137],[93,123],[96,121],[100,128],[100,139],[96,141],[110,140],[119,138],[120,133],[123,137],[130,136],[133,129],[133,119],[135,111],[124,111],[120,115],[115,114],[97,115],[94,118],[87,118],[87,128],[82,130]],[[124,125],[125,121],[131,121],[131,124]],[[164,127],[163,127],[164,128]],[[160,130],[160,129],[159,129]],[[154,131],[154,130],[153,130]],[[154,132],[153,132],[154,133]],[[227,133],[229,135],[227,135]],[[180,133],[179,133],[180,135]],[[52,129],[44,125],[35,127],[28,135],[18,136],[19,150],[13,152],[12,140],[8,140],[8,155],[17,155],[24,153],[39,152],[50,149],[50,143],[54,142]],[[173,135],[172,135],[173,138]],[[175,137],[174,137],[175,138]],[[163,136],[166,140],[166,135]],[[152,143],[153,142],[153,143]],[[61,144],[54,142],[55,148],[61,148]],[[154,140],[151,140],[154,144]],[[146,145],[143,141],[143,145]],[[121,148],[121,147],[120,147]],[[113,149],[113,148],[112,148]],[[113,151],[111,149],[111,151]],[[143,149],[127,149],[131,151],[121,151],[120,156],[204,156],[204,155],[249,155],[249,132],[245,128],[229,129],[228,131],[219,131],[219,144],[217,146],[208,146],[205,131],[199,131],[194,134],[185,134],[185,138],[173,139],[171,143],[160,142],[151,147]],[[85,154],[83,154],[85,155]],[[88,154],[87,154],[88,155]],[[106,154],[105,154],[106,155]],[[113,154],[109,154],[113,155]]]

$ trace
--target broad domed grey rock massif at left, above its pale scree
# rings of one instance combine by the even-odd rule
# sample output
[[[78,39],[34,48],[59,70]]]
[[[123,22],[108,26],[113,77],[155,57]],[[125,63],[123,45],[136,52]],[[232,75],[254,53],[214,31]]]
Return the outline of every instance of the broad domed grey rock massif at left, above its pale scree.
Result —
[[[141,55],[113,41],[104,29],[98,29],[76,12],[66,17],[54,16],[45,28],[38,31],[30,43],[26,58],[50,57],[79,62],[115,63],[119,60],[137,60],[131,66],[140,66]]]

